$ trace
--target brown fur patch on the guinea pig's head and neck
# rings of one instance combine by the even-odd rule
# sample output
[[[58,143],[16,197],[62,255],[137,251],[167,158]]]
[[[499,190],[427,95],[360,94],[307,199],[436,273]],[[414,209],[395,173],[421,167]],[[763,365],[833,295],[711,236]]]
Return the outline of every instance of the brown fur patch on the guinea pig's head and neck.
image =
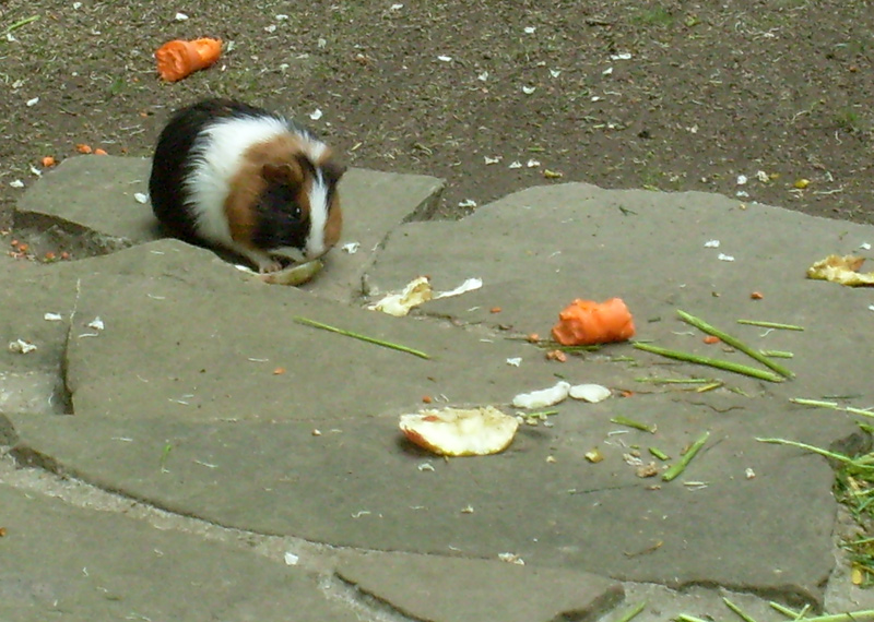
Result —
[[[304,153],[302,139],[292,133],[280,134],[246,149],[239,170],[231,179],[231,189],[224,205],[231,238],[235,242],[255,248],[251,242],[258,225],[255,207],[268,181],[295,188],[297,204],[304,217],[309,216],[309,188],[312,179],[298,159]],[[265,175],[269,180],[264,178]]]

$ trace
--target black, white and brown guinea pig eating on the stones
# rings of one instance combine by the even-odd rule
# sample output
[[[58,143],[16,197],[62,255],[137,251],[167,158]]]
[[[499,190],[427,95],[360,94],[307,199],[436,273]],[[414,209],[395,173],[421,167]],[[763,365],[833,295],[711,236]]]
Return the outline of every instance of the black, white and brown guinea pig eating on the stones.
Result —
[[[170,234],[231,250],[263,273],[336,243],[344,171],[306,128],[238,101],[205,99],[176,111],[161,132],[149,194]]]

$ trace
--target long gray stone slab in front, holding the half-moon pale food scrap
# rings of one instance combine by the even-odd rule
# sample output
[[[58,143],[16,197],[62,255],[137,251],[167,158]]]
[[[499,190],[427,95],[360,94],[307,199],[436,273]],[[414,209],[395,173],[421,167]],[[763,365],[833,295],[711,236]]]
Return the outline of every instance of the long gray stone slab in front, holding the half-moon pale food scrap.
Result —
[[[625,434],[610,421],[617,415],[659,430]],[[792,438],[816,442],[829,417],[799,417]],[[13,422],[23,455],[50,456],[61,473],[227,527],[380,550],[510,552],[536,566],[819,601],[834,565],[834,475],[817,456],[755,441],[787,435],[779,406],[718,412],[661,394],[567,405],[555,419],[553,428],[523,427],[498,456],[448,462],[406,444],[395,416]],[[634,446],[676,457],[704,430],[711,442],[677,480],[641,479],[625,462]],[[584,454],[595,447],[605,459],[590,464]],[[792,509],[786,499],[804,501]]]

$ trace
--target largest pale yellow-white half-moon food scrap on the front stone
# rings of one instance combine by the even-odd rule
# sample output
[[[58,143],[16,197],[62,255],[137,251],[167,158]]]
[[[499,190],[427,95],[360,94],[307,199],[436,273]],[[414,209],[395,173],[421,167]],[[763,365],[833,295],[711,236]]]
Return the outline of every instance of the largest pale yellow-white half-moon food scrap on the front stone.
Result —
[[[441,456],[485,456],[506,450],[519,421],[494,406],[444,408],[401,415],[404,435]]]

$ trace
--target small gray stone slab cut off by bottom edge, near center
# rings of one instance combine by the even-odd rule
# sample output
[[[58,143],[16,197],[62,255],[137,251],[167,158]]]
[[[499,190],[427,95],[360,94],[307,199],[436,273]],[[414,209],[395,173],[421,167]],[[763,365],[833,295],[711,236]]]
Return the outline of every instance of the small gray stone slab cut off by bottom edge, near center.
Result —
[[[433,622],[594,620],[623,599],[622,584],[600,576],[486,560],[345,554],[336,574],[400,613]]]

